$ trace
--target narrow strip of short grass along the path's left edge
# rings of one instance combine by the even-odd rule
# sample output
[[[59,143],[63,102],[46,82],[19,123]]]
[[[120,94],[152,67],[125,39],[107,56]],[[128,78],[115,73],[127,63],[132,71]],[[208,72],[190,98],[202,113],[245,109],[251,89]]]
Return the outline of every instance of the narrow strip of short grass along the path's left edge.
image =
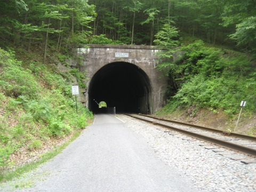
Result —
[[[22,174],[27,173],[27,172],[29,172],[31,170],[34,170],[39,165],[49,161],[50,159],[52,159],[56,155],[60,154],[63,149],[65,149],[72,141],[74,141],[77,137],[79,137],[80,133],[81,133],[81,130],[76,130],[74,135],[73,135],[73,137],[71,137],[71,139],[69,139],[63,145],[55,147],[54,150],[49,151],[49,152],[43,154],[38,161],[32,162],[32,163],[28,163],[26,165],[18,167],[14,171],[6,171],[4,173],[1,173],[0,174],[0,183],[6,182],[6,181],[11,181],[14,178],[18,178]]]

